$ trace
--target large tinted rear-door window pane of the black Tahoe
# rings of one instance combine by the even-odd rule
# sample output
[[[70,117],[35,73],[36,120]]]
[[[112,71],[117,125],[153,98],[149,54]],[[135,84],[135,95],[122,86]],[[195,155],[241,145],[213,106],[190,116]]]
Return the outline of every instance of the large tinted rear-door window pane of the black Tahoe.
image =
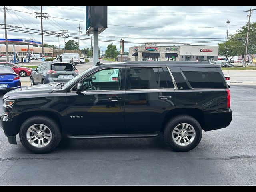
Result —
[[[130,68],[130,89],[158,88],[158,68]]]

